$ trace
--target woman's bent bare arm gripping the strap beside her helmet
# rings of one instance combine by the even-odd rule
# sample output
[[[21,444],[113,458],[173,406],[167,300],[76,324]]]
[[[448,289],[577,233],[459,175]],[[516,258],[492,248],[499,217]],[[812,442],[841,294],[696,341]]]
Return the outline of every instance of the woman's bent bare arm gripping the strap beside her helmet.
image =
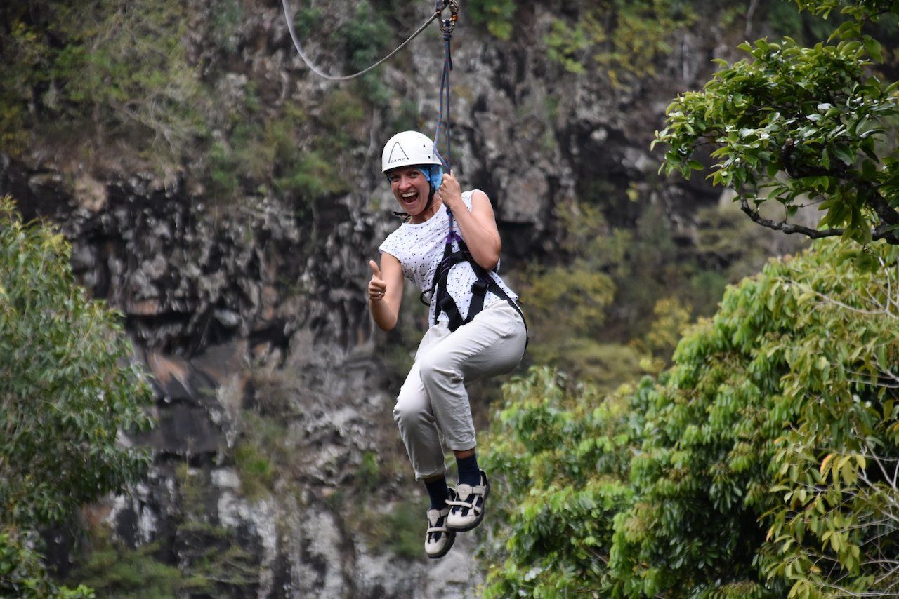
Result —
[[[494,269],[500,260],[502,242],[500,232],[496,228],[496,217],[494,207],[490,205],[490,198],[487,198],[487,194],[483,191],[476,190],[471,194],[471,212],[469,212],[462,200],[458,181],[452,172],[443,175],[440,197],[443,204],[452,211],[468,251],[471,251],[471,257],[482,268]]]

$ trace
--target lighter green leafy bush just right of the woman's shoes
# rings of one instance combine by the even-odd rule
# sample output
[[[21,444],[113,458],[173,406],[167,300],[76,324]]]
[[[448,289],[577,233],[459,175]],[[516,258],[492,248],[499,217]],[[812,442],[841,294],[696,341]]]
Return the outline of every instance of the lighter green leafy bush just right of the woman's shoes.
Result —
[[[613,516],[632,501],[640,411],[545,367],[504,393],[486,467],[508,499],[492,508],[485,596],[590,596],[605,579]]]

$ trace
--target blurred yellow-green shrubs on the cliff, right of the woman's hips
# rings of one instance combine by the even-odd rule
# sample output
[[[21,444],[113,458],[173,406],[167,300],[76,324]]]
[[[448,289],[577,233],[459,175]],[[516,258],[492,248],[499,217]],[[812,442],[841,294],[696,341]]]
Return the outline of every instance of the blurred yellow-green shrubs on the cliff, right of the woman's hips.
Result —
[[[645,208],[633,228],[611,227],[602,204],[585,198],[558,208],[556,260],[531,265],[521,294],[533,363],[603,391],[658,374],[682,330],[715,312],[728,283],[758,272],[772,250],[800,247],[760,235],[727,207],[699,210],[699,233],[684,242],[657,208]]]

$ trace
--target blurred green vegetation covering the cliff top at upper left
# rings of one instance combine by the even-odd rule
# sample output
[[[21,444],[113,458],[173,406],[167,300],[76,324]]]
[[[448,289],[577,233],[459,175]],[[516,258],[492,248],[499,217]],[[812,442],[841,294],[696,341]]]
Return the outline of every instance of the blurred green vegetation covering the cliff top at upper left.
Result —
[[[65,170],[182,177],[225,205],[273,194],[295,199],[301,215],[316,198],[346,193],[343,156],[387,90],[368,77],[352,92],[322,92],[321,110],[271,101],[286,90],[228,66],[238,41],[251,41],[237,30],[255,9],[236,0],[216,0],[208,13],[170,0],[4,3],[0,150],[23,157],[51,142]],[[390,36],[367,2],[357,9],[349,22],[303,11],[298,28],[325,30],[359,66]]]

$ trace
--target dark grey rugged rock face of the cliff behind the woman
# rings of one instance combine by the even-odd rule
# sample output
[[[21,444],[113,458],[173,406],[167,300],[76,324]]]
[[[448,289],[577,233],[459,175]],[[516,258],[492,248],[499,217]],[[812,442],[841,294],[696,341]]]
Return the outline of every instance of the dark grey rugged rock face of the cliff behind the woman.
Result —
[[[654,181],[648,143],[673,92],[708,73],[713,44],[684,32],[660,76],[617,89],[547,59],[555,4],[522,4],[508,42],[465,13],[454,37],[454,168],[494,199],[512,269],[554,250],[554,208],[598,181],[616,223],[654,203],[686,227],[690,205],[710,198]],[[138,442],[153,447],[155,467],[95,514],[132,544],[160,541],[161,559],[185,571],[209,574],[209,548],[236,547],[245,576],[223,566],[220,595],[471,596],[480,577],[470,540],[430,564],[396,555],[394,533],[369,530],[378,513],[405,522],[396,510],[414,488],[390,417],[396,380],[385,374],[387,349],[403,341],[373,329],[364,288],[367,261],[396,226],[380,144],[417,125],[399,122],[401,101],[428,130],[437,113],[441,44],[428,33],[384,68],[391,100],[371,108],[336,159],[351,190],[303,210],[289,194],[247,186],[241,201],[220,201],[190,165],[156,174],[59,161],[48,148],[4,154],[0,191],[58,222],[78,276],[125,315],[154,376],[159,426]],[[263,110],[294,101],[315,115],[334,89],[302,66],[275,4],[246,12],[230,57],[191,35],[195,63],[222,74],[222,102],[250,81]],[[339,62],[324,42],[311,50]],[[415,505],[423,512],[423,499]]]

